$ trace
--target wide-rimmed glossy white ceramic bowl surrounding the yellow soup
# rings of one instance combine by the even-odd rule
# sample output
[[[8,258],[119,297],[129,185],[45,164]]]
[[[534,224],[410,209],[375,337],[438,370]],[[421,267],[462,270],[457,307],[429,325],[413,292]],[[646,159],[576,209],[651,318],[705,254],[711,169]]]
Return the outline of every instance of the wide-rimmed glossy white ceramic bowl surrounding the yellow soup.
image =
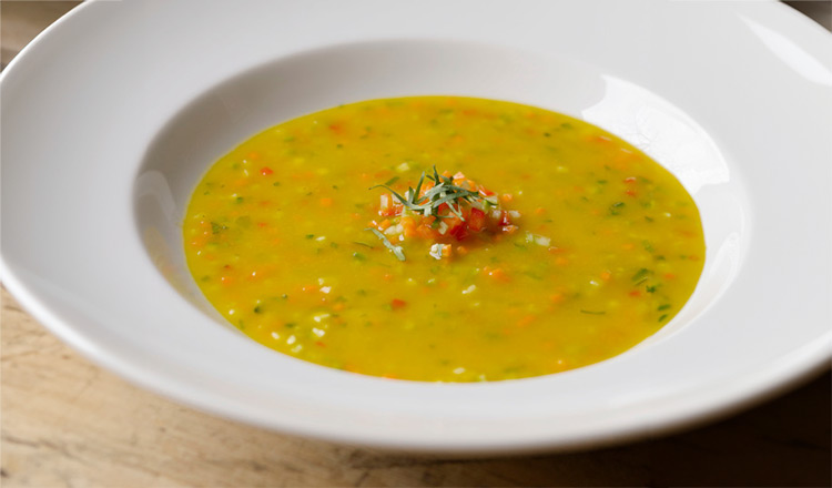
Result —
[[[410,451],[566,449],[726,414],[832,356],[832,37],[773,2],[95,1],[0,87],[6,285],[206,411]],[[227,326],[183,264],[205,169],[286,119],[416,94],[565,112],[666,165],[708,245],[682,313],[610,360],[487,384],[354,375]]]

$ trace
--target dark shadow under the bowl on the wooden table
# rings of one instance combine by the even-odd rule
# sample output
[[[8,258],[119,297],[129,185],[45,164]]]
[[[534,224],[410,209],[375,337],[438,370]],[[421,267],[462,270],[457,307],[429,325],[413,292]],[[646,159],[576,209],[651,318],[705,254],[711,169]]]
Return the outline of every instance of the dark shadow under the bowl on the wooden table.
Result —
[[[443,460],[352,450],[355,486],[831,486],[832,375],[730,419],[575,454]]]

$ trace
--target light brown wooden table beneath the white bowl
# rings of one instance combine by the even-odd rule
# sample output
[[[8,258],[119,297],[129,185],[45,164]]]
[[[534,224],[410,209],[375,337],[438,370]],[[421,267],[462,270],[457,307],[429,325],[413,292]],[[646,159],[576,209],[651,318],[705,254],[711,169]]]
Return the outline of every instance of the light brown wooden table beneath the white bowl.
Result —
[[[830,28],[829,2],[800,3]],[[0,3],[3,67],[74,4]],[[832,486],[829,373],[721,423],[633,445],[415,458],[287,437],[173,404],[81,358],[4,289],[1,318],[3,487]]]

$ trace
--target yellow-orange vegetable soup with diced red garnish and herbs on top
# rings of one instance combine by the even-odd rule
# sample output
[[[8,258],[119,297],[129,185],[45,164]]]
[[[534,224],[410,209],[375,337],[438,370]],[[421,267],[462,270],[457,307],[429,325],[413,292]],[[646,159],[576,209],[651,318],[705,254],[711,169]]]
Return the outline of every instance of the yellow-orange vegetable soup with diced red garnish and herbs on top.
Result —
[[[425,382],[539,376],[640,343],[704,260],[699,212],[586,122],[493,100],[373,100],[216,162],[183,225],[195,282],[290,356]]]

